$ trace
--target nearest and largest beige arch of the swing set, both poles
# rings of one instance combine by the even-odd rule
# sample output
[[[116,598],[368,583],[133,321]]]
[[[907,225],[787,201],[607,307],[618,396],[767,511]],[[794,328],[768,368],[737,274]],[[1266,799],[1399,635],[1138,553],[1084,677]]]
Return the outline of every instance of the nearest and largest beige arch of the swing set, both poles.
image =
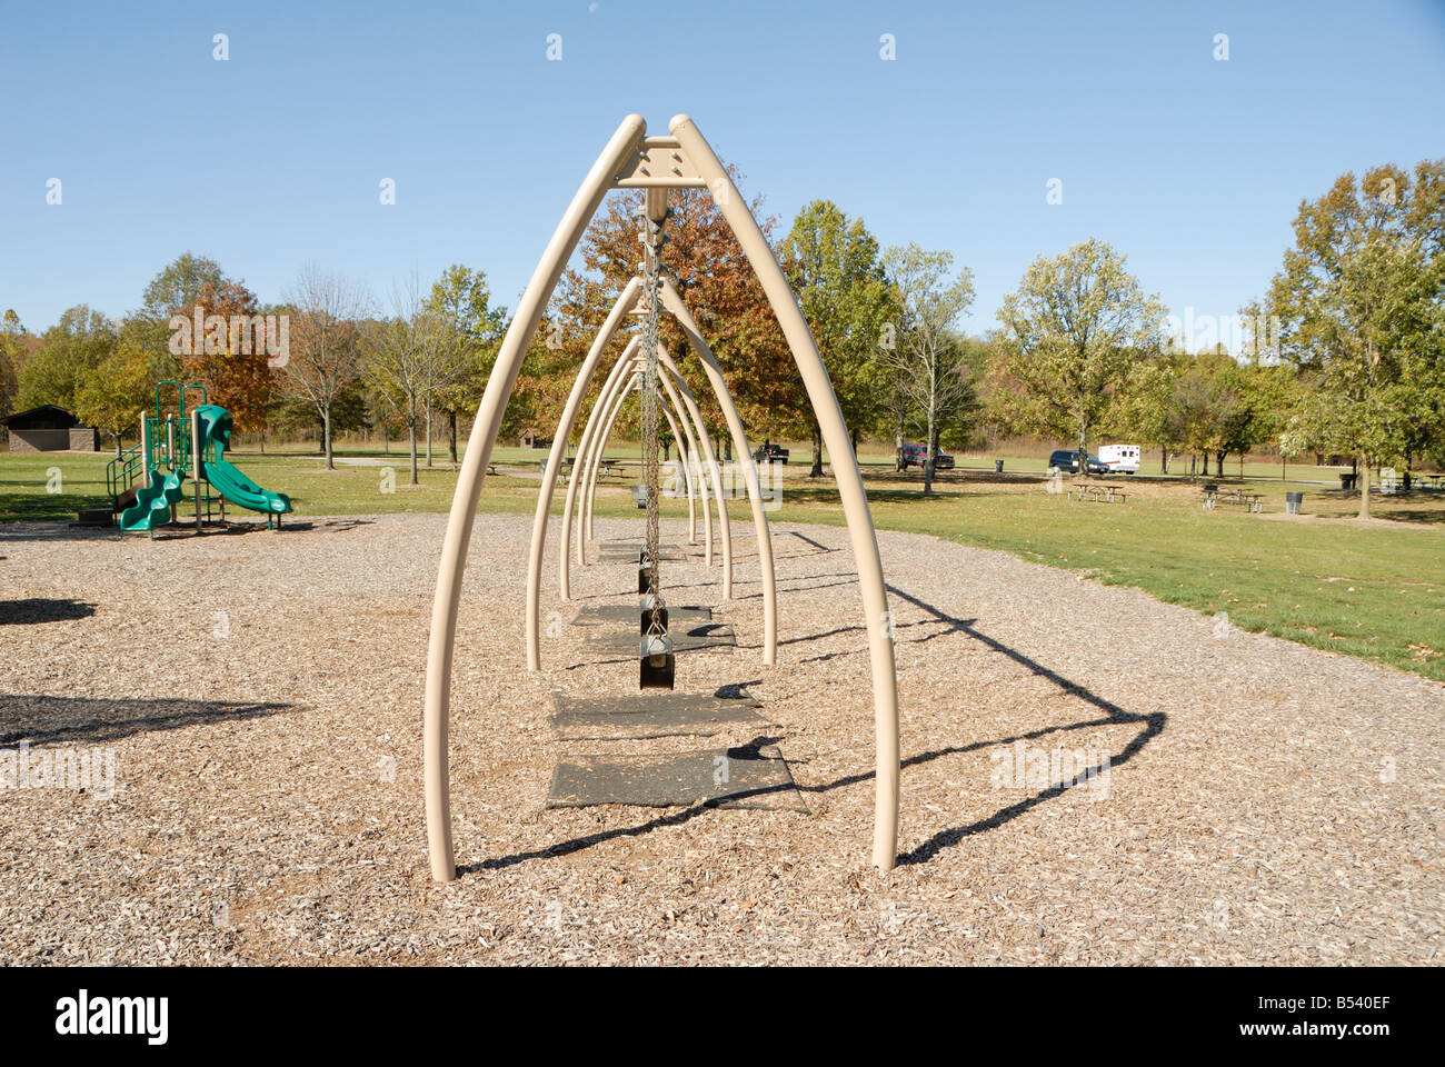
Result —
[[[426,655],[423,720],[426,837],[432,878],[438,882],[451,882],[458,873],[452,849],[448,720],[457,614],[461,603],[467,549],[477,518],[477,503],[481,497],[501,416],[522,370],[522,360],[568,259],[577,249],[592,214],[613,188],[647,189],[649,214],[663,201],[662,191],[665,189],[711,189],[714,202],[757,275],[792,350],[798,372],[808,390],[808,399],[822,429],[824,448],[832,457],[832,473],[838,483],[838,496],[858,567],[858,591],[863,599],[864,627],[868,638],[874,708],[873,865],[886,872],[892,870],[896,860],[899,723],[893,626],[887,606],[887,588],[883,581],[883,562],[873,531],[873,516],[868,512],[863,476],[853,455],[848,428],[842,419],[838,398],[832,392],[828,370],[808,330],[808,322],[803,320],[782,266],[779,266],[767,239],[757,226],[757,220],[753,218],[743,198],[737,195],[727,171],[694,121],[685,114],[673,116],[668,129],[670,132],[668,137],[649,137],[647,123],[643,117],[630,114],[608,139],[603,153],[572,197],[572,202],[562,215],[562,221],[558,223],[552,240],[548,241],[542,259],[532,273],[532,280],[527,282],[527,288],[522,293],[477,409],[471,440],[467,444],[467,455],[457,479],[457,494],[452,497],[451,515],[447,520]],[[621,314],[621,302],[614,312]],[[597,356],[600,354],[598,351]],[[591,353],[588,359],[594,360]],[[553,450],[548,471],[553,479],[556,471],[552,464],[559,464],[559,461],[561,451]]]

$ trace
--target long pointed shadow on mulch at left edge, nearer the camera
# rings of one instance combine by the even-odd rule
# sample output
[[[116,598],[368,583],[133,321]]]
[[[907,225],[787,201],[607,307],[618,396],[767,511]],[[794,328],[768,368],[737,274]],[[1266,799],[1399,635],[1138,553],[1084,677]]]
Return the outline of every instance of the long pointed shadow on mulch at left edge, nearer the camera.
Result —
[[[224,700],[0,695],[0,745],[23,740],[30,745],[98,745],[152,730],[244,721],[293,710],[298,710],[295,704]]]

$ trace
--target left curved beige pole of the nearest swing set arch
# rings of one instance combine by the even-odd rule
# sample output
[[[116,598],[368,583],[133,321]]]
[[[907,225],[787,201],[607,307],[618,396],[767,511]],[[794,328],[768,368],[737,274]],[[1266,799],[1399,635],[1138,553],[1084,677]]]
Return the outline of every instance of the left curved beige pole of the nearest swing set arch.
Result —
[[[633,159],[642,145],[647,123],[640,114],[623,119],[592,169],[572,197],[562,221],[558,223],[538,262],[532,279],[522,293],[512,325],[497,351],[496,364],[487,377],[467,441],[467,454],[457,477],[447,536],[442,539],[441,562],[436,570],[436,596],[432,601],[432,629],[426,648],[426,711],[422,721],[422,755],[426,779],[426,843],[432,878],[451,882],[457,878],[457,862],[451,833],[451,753],[448,750],[448,714],[451,710],[452,651],[457,640],[457,609],[461,601],[461,580],[467,567],[467,548],[477,518],[483,479],[507,400],[517,383],[522,359],[536,333],[542,311],[556,286],[577,241],[597,211],[617,173]]]

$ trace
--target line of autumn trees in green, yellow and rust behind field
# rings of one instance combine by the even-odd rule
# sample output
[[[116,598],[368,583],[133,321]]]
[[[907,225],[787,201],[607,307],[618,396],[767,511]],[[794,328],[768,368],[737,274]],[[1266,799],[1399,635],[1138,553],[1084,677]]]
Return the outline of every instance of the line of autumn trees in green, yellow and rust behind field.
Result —
[[[598,324],[637,269],[639,207],[640,197],[613,197],[590,226],[533,338],[504,435],[556,425]],[[1186,461],[1189,473],[1209,474],[1212,463],[1222,474],[1227,457],[1257,448],[1316,461],[1344,455],[1366,473],[1397,466],[1406,477],[1445,460],[1445,160],[1345,173],[1302,201],[1279,272],[1263,298],[1238,309],[1244,334],[1211,333],[1204,343],[1166,317],[1103,240],[1035,259],[997,309],[998,327],[980,335],[964,328],[972,272],[951,252],[883,247],[861,218],[827,200],[805,205],[786,233],[760,200],[751,207],[792,280],[854,447],[860,435],[889,441],[902,464],[905,441],[922,438],[925,493],[936,451],[968,447],[981,432],[1085,453],[1104,437],[1127,440],[1157,450],[1166,473]],[[746,424],[757,437],[811,440],[811,473],[821,476],[819,427],[721,211],[701,189],[676,191],[672,208],[666,269]],[[176,353],[172,324],[198,308],[217,321],[286,315],[285,366],[211,331]],[[415,481],[419,442],[429,464],[435,429],[445,428],[455,461],[507,321],[486,273],[461,265],[429,283],[415,275],[394,282],[384,301],[309,265],[263,305],[214,260],[188,252],[120,321],[78,305],[32,335],[6,312],[0,406],[58,403],[118,444],[155,382],[186,377],[263,441],[314,427],[328,464],[338,432],[405,435]],[[662,335],[691,366],[675,324],[665,320]],[[730,455],[705,392],[711,432]]]

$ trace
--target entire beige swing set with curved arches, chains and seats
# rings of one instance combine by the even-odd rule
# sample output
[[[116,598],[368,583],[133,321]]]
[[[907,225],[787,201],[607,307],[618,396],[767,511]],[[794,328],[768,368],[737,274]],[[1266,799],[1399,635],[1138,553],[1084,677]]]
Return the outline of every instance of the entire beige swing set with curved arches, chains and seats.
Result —
[[[893,867],[897,850],[897,802],[899,802],[899,736],[897,736],[897,681],[894,675],[893,638],[890,614],[887,607],[887,590],[883,580],[883,567],[879,558],[877,538],[873,531],[873,519],[868,512],[867,494],[863,487],[863,477],[858,471],[857,460],[853,455],[847,425],[838,408],[838,399],[832,392],[828,372],[824,367],[812,334],[798,307],[798,301],[788,285],[777,259],[773,256],[766,237],[747,208],[741,194],[733,187],[722,163],[714,155],[711,146],[701,132],[686,116],[675,116],[669,123],[670,136],[647,136],[646,121],[642,116],[627,116],[611,136],[601,156],[592,165],[581,188],[572,198],[571,205],[562,215],[561,223],[552,234],[542,259],[527,283],[526,291],[517,305],[516,315],[507,330],[501,348],[497,353],[496,364],[487,382],[487,389],[477,411],[471,440],[462,460],[461,473],[457,483],[457,493],[452,499],[451,515],[447,523],[447,534],[442,544],[441,564],[436,577],[436,594],[432,607],[432,627],[426,661],[426,706],[423,723],[423,755],[425,755],[425,792],[426,792],[426,831],[432,876],[438,882],[451,882],[457,878],[455,853],[452,846],[451,821],[451,785],[449,785],[449,747],[448,747],[448,719],[451,704],[451,675],[452,655],[457,638],[457,616],[461,600],[462,571],[465,568],[467,552],[471,544],[473,525],[477,515],[477,505],[481,496],[483,480],[496,444],[501,416],[507,400],[516,385],[522,367],[522,359],[527,351],[543,309],[552,295],[556,282],[571,257],[577,241],[581,239],[587,224],[595,214],[603,198],[610,189],[643,189],[646,205],[643,211],[643,269],[642,283],[633,279],[623,291],[608,314],[597,340],[591,346],[568,396],[562,421],[553,435],[553,445],[548,458],[548,468],[542,477],[540,494],[538,500],[533,536],[527,561],[527,613],[526,613],[526,645],[529,669],[540,669],[539,649],[539,597],[540,597],[540,565],[543,542],[546,536],[548,518],[551,510],[552,490],[561,468],[562,454],[566,441],[581,408],[582,396],[595,373],[603,351],[613,334],[617,331],[623,315],[633,308],[633,299],[639,289],[643,291],[643,331],[640,341],[630,343],[629,350],[618,360],[610,376],[610,385],[604,386],[604,396],[608,389],[633,387],[634,374],[629,372],[642,366],[643,392],[643,442],[644,442],[644,493],[647,506],[647,544],[642,555],[643,568],[639,574],[639,588],[646,588],[647,596],[642,601],[642,685],[649,685],[649,661],[653,669],[665,671],[666,687],[672,685],[670,645],[666,640],[666,614],[660,597],[659,584],[659,551],[657,551],[657,419],[662,411],[659,386],[668,393],[676,411],[676,399],[682,399],[682,406],[688,415],[695,413],[695,405],[688,403],[688,390],[678,389],[681,373],[673,373],[675,366],[665,359],[666,353],[657,341],[657,317],[662,307],[682,324],[688,334],[689,346],[698,356],[699,363],[720,399],[728,431],[733,435],[738,463],[747,479],[749,496],[753,503],[754,523],[757,525],[757,547],[760,570],[764,583],[764,664],[776,664],[776,590],[772,574],[772,544],[766,516],[762,512],[762,502],[757,484],[757,470],[747,448],[746,434],[737,411],[731,405],[727,385],[717,366],[707,351],[705,341],[692,322],[686,307],[682,304],[676,288],[662,275],[660,252],[665,241],[663,227],[668,218],[668,194],[673,188],[707,188],[721,210],[724,218],[737,237],[747,256],[763,291],[782,325],[789,348],[798,364],[809,402],[814,408],[819,427],[822,428],[824,445],[832,457],[832,473],[838,484],[844,516],[848,523],[850,542],[858,567],[858,581],[864,610],[864,629],[868,639],[870,669],[874,701],[874,746],[876,746],[876,795],[874,795],[874,833],[873,833],[873,863],[881,870]],[[640,353],[637,348],[640,347]],[[629,353],[631,353],[629,356]],[[707,354],[705,354],[707,353]],[[626,382],[626,386],[620,385]],[[666,385],[662,385],[666,383]],[[605,444],[610,422],[614,415],[608,413],[607,421],[598,425],[598,411],[605,411],[604,399],[600,399],[592,411],[588,425],[592,428],[591,438],[584,431],[584,445],[574,466],[568,487],[568,510],[564,515],[564,538],[569,536],[572,515],[575,513],[575,493],[579,480],[588,473],[588,458],[598,458]],[[683,419],[686,424],[688,419]],[[711,453],[711,444],[705,432],[696,434],[701,418],[695,421],[691,435],[696,447],[689,447],[688,468],[689,484],[696,470],[696,448],[701,447],[707,461],[708,474],[712,477],[715,497],[718,502],[720,525],[724,549],[724,599],[731,596],[731,538],[727,525],[727,509],[722,500],[721,477],[717,458]],[[682,438],[676,437],[679,448]],[[692,445],[692,441],[689,441]],[[592,464],[595,467],[595,463]],[[698,479],[701,481],[701,479]],[[691,492],[691,489],[689,489]],[[704,489],[705,494],[705,489]],[[584,503],[590,512],[591,490]],[[705,496],[704,496],[705,499]],[[704,507],[705,522],[711,534],[711,518]],[[588,536],[588,522],[584,520],[581,538],[578,541],[578,558],[585,558],[585,538]],[[711,536],[709,536],[711,541]],[[566,583],[568,551],[564,545],[561,552],[562,593],[569,596]],[[711,561],[711,554],[709,554]],[[660,625],[659,625],[660,623]],[[666,667],[657,661],[666,656]]]

